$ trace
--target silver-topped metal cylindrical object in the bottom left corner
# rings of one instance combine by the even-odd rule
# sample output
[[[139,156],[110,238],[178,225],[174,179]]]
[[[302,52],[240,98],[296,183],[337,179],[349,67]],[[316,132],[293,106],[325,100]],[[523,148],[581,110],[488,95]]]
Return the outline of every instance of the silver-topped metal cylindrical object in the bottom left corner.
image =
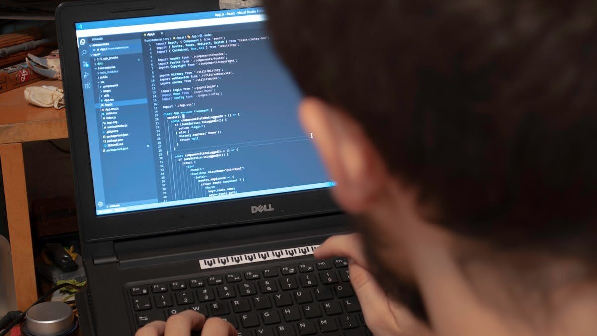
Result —
[[[42,302],[27,310],[26,332],[35,336],[65,335],[75,328],[73,310],[66,303]]]

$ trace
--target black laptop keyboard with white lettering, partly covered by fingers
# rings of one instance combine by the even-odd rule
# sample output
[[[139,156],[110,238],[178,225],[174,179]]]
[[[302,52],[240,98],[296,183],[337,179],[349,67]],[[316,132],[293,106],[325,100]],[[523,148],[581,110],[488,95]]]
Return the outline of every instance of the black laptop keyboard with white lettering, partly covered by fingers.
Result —
[[[232,323],[238,335],[371,335],[346,258],[293,262],[127,289],[137,328],[191,309]]]

